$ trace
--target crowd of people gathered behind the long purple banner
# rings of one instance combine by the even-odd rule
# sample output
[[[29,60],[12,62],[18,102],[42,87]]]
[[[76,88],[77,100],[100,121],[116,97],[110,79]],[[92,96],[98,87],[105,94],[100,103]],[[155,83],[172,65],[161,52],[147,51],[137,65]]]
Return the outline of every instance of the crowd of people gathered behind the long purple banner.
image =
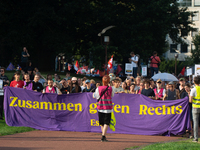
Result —
[[[26,48],[24,48],[22,56],[23,58],[30,56]],[[133,52],[131,53],[131,56],[132,58],[130,58],[130,62],[137,64],[138,58]],[[157,73],[158,62],[160,62],[160,58],[157,57],[156,52],[154,53],[154,56],[151,57],[151,62],[153,62],[151,66],[152,71]],[[135,67],[133,67],[133,76],[127,76],[124,81],[122,81],[119,76],[116,77],[113,73],[109,74],[110,82],[108,83],[108,86],[112,87],[114,94],[142,94],[153,100],[161,101],[182,99],[186,96],[196,96],[194,92],[191,94],[191,89],[194,88],[196,84],[188,83],[184,77],[180,78],[178,82],[165,82],[161,79],[154,81],[152,78],[149,79],[142,76],[137,76],[136,64]],[[83,78],[71,77],[70,72],[66,72],[65,78],[61,78],[57,73],[54,75],[47,74],[47,76],[44,77],[37,68],[32,67],[31,62],[28,62],[28,65],[24,67],[23,70],[16,71],[10,81],[5,75],[5,71],[6,70],[4,67],[0,68],[0,119],[3,119],[4,86],[23,88],[41,93],[56,93],[58,95],[84,92],[95,93],[98,87],[102,86],[101,81],[88,79],[86,76]],[[192,102],[192,100],[189,101],[190,110],[192,110]]]

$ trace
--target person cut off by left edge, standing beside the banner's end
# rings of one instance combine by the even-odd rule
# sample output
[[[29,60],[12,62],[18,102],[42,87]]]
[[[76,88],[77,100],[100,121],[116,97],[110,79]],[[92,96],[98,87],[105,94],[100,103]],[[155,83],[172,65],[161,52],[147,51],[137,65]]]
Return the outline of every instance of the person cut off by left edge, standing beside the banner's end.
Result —
[[[3,87],[9,84],[8,77],[5,75],[5,68],[0,68],[0,120],[3,120],[3,100],[4,100],[4,91]]]

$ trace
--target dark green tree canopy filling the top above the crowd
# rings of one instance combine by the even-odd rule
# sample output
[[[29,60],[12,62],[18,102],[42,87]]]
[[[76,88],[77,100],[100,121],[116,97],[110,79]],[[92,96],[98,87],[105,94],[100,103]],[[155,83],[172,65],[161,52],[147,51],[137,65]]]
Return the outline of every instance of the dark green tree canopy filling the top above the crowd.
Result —
[[[193,30],[189,19],[193,14],[179,9],[174,0],[7,0],[0,6],[3,66],[16,55],[21,58],[23,46],[29,50],[33,65],[43,70],[53,68],[59,53],[65,53],[68,60],[73,55],[89,60],[90,50],[96,54],[100,49],[97,34],[110,25],[116,27],[103,34],[111,39],[109,55],[116,54],[115,60],[120,63],[134,51],[147,60],[153,51],[158,55],[166,51],[168,33],[180,43],[180,37]],[[102,63],[105,56],[100,56],[95,59]]]

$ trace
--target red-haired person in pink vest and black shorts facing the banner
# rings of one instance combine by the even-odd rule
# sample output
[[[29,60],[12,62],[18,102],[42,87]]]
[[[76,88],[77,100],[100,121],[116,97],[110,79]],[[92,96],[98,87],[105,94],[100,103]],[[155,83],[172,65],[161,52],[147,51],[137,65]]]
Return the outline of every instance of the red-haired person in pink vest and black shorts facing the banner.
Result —
[[[97,109],[99,116],[99,124],[101,126],[102,131],[102,142],[107,142],[106,132],[108,130],[108,126],[111,121],[111,113],[113,111],[112,105],[112,97],[114,96],[114,91],[112,87],[108,86],[110,82],[110,77],[108,75],[103,76],[102,78],[103,86],[99,86],[95,93],[93,94],[93,98],[97,99]]]

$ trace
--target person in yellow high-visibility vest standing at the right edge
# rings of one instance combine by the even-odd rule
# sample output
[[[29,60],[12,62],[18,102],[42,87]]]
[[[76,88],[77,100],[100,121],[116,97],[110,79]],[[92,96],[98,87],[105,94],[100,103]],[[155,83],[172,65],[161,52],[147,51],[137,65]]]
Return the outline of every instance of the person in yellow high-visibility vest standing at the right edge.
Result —
[[[190,92],[189,102],[192,103],[192,116],[193,116],[193,142],[198,142],[198,128],[199,128],[199,116],[200,116],[200,78],[194,77],[195,87]]]

